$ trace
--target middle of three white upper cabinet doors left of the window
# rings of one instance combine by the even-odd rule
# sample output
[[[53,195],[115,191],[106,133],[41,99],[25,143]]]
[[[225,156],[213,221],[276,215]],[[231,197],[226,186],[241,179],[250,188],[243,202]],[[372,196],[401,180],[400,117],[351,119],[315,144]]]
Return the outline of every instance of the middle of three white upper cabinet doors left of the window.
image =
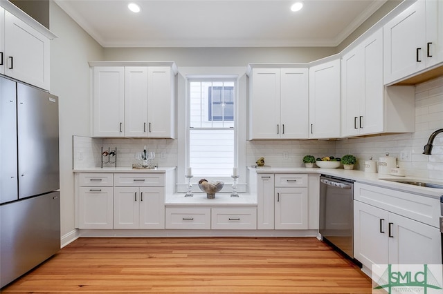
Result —
[[[147,137],[147,67],[125,67],[125,137]]]

